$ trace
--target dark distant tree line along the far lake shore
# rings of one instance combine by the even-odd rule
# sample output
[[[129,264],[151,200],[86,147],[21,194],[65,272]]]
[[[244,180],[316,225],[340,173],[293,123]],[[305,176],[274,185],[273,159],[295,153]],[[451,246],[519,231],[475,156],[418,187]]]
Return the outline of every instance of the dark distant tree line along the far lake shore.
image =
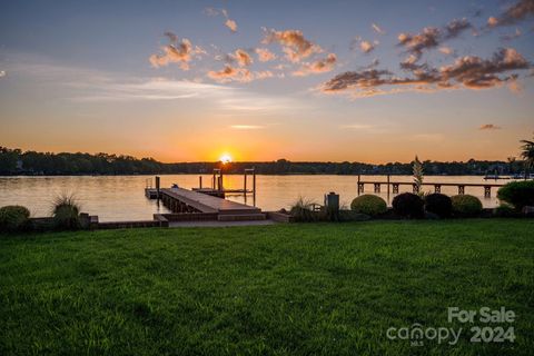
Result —
[[[413,162],[370,165],[364,162],[294,162],[286,159],[264,162],[230,162],[224,166],[227,174],[241,174],[245,168],[256,168],[264,175],[412,175]],[[0,147],[0,175],[165,175],[210,174],[220,162],[165,164],[154,158],[135,158],[109,154],[52,154],[22,151]],[[508,161],[423,161],[425,175],[485,175],[520,174],[523,162]]]

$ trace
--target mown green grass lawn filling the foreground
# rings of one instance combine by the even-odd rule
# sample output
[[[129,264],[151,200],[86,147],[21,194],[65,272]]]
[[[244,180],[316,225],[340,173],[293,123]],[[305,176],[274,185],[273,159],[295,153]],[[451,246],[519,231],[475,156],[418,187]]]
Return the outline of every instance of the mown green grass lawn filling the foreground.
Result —
[[[534,220],[0,237],[0,355],[532,355]],[[506,307],[511,324],[447,322]],[[389,327],[463,328],[456,345]],[[514,343],[471,343],[513,326]]]

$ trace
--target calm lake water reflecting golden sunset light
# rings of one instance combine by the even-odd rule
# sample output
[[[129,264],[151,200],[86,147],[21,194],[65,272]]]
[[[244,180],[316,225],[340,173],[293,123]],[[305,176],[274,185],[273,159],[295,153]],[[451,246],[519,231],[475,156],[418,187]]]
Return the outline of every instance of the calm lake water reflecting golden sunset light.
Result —
[[[182,188],[198,187],[198,175],[168,175],[161,177],[161,187],[178,184]],[[204,185],[210,182],[211,176],[202,176]],[[299,197],[322,204],[323,197],[329,191],[340,195],[342,204],[349,206],[357,196],[356,176],[256,176],[256,206],[263,210],[288,208]],[[50,216],[51,204],[60,194],[73,194],[82,207],[82,211],[98,215],[101,221],[151,219],[155,212],[168,212],[156,200],[145,197],[147,180],[154,181],[154,176],[72,176],[72,177],[0,177],[0,206],[23,205],[32,216]],[[385,181],[384,176],[362,176],[362,180]],[[392,176],[395,181],[413,181],[411,176]],[[507,180],[498,180],[505,184]],[[463,182],[495,184],[485,181],[483,177],[472,176],[436,176],[425,177],[425,182]],[[251,187],[251,179],[248,188]],[[243,176],[225,176],[225,188],[243,188]],[[366,192],[373,192],[373,186],[365,186]],[[400,186],[400,192],[411,191],[411,186]],[[380,194],[387,200],[385,186]],[[433,190],[432,186],[424,187]],[[456,195],[456,187],[442,187],[442,192]],[[465,188],[466,194],[477,196],[485,207],[497,205],[496,189],[492,197],[484,198],[483,188]],[[245,202],[243,196],[229,196],[230,200]],[[393,198],[393,195],[392,197]],[[389,199],[390,200],[390,199]],[[251,205],[251,196],[247,198]]]

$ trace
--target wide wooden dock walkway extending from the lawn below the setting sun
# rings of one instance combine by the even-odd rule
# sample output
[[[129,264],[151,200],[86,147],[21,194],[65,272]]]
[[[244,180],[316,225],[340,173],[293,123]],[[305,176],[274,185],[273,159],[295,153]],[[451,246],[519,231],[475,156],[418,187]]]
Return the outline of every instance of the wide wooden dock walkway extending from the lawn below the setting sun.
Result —
[[[159,195],[172,212],[217,214],[220,221],[265,219],[265,214],[259,208],[189,189],[162,188]]]

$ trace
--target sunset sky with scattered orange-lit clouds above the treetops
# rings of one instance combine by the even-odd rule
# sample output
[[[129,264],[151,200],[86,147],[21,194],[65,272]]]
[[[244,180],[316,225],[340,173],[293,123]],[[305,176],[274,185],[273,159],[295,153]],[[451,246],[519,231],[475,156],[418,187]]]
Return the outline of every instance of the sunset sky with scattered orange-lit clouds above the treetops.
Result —
[[[534,0],[9,1],[0,146],[164,161],[506,159]]]

